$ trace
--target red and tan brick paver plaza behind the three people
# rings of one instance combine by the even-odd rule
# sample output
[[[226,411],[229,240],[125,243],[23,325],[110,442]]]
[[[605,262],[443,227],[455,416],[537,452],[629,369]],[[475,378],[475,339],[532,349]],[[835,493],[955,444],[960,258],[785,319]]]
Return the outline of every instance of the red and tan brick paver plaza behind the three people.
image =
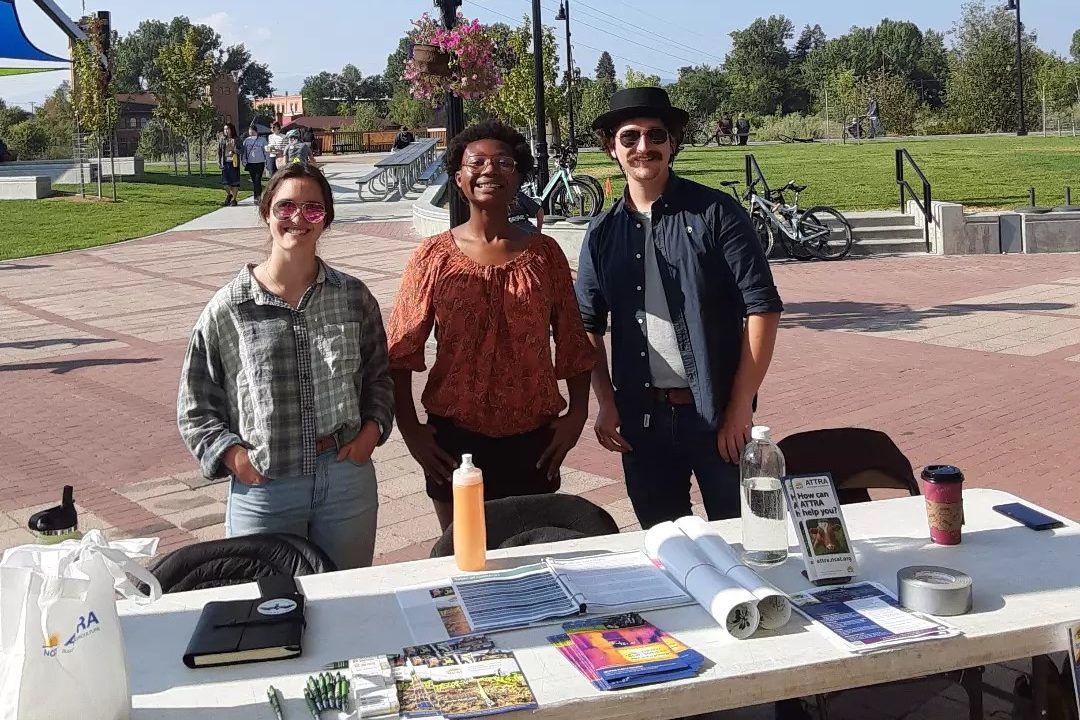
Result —
[[[222,534],[175,424],[188,332],[216,288],[267,250],[265,230],[185,231],[0,262],[0,547],[76,486],[84,527],[158,535],[167,551]],[[407,222],[335,226],[322,255],[389,314],[418,239]],[[787,305],[758,420],[779,436],[860,425],[918,467],[1080,517],[1080,256],[896,257],[778,263]],[[426,557],[437,524],[400,435],[376,453],[377,562]],[[635,527],[616,456],[592,427],[563,489]]]

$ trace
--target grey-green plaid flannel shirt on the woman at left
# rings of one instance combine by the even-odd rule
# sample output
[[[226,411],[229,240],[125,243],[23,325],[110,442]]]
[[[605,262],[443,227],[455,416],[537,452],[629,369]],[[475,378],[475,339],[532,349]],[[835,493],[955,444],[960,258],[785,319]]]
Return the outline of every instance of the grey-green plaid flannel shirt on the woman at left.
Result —
[[[315,472],[315,440],[348,443],[368,420],[387,440],[393,381],[379,303],[320,261],[294,310],[251,267],[217,291],[191,332],[176,403],[180,435],[203,475],[228,475],[233,445],[267,477]]]

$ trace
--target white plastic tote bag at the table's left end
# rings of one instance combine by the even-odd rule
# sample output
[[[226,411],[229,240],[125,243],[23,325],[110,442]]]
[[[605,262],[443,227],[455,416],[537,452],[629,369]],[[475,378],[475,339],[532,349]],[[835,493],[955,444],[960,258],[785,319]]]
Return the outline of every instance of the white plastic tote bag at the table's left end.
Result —
[[[158,540],[108,542],[99,530],[0,559],[0,720],[127,720],[131,693],[117,594],[156,600],[135,561]],[[129,574],[150,586],[145,596]]]

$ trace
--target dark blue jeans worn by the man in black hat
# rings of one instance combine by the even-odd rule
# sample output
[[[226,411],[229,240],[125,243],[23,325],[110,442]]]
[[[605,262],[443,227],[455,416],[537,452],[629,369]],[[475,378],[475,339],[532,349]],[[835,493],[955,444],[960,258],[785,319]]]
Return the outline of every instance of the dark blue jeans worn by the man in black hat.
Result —
[[[633,426],[631,426],[633,425]],[[739,517],[739,465],[720,457],[716,431],[703,430],[692,405],[658,402],[649,426],[623,423],[626,494],[643,528],[690,514],[690,474],[710,520]]]

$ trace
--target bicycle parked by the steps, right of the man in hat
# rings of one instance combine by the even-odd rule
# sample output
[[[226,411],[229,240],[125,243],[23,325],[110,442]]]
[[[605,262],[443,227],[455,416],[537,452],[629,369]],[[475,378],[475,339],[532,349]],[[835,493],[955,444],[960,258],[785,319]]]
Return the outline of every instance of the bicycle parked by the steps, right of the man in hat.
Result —
[[[779,190],[769,191],[762,198],[755,191],[757,180],[746,191],[751,220],[754,228],[762,227],[780,244],[788,256],[797,260],[840,260],[851,252],[851,223],[834,207],[815,205],[808,210],[799,208],[799,193],[805,185],[788,182]],[[787,203],[784,193],[795,193],[795,200]],[[754,220],[757,216],[759,220]],[[779,234],[778,234],[779,232]],[[770,244],[771,247],[771,244]]]

